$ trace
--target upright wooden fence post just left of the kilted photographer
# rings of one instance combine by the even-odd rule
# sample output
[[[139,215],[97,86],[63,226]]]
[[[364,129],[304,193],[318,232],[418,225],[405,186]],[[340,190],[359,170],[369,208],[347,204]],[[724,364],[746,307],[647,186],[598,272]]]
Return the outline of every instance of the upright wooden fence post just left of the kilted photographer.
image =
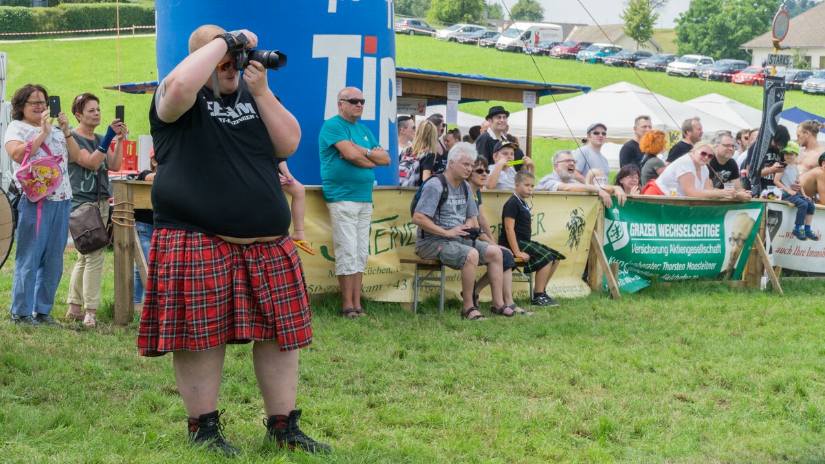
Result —
[[[125,210],[118,215],[134,217],[132,186],[125,182],[112,182],[115,186],[115,209]],[[130,221],[134,224],[134,221]],[[115,324],[130,324],[134,315],[134,244],[132,227],[115,223],[115,308],[112,317]],[[138,245],[139,246],[139,245]]]

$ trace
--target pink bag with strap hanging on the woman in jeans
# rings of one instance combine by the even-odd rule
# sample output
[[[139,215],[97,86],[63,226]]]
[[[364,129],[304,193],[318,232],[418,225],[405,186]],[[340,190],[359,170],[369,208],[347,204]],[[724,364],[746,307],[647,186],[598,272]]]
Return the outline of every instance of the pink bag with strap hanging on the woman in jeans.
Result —
[[[31,140],[26,144],[26,155],[20,163],[20,168],[14,172],[17,182],[20,182],[23,193],[32,203],[37,203],[37,232],[40,232],[40,216],[43,215],[43,199],[60,187],[63,182],[63,169],[60,168],[62,158],[54,156],[45,143],[40,149],[49,156],[28,162],[31,155]]]

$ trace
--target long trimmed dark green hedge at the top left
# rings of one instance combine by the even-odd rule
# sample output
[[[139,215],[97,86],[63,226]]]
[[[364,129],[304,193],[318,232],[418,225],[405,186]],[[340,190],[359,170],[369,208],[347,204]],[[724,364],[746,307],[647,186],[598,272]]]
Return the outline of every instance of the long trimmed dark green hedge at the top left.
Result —
[[[120,27],[154,26],[154,22],[155,12],[151,4],[120,4]],[[115,3],[64,3],[49,8],[0,7],[2,32],[79,31],[116,26]]]

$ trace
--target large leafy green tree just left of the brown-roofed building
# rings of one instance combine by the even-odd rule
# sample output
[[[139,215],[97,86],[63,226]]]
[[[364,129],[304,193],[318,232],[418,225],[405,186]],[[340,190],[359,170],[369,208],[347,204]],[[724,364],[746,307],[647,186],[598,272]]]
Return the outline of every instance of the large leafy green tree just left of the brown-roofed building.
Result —
[[[676,19],[680,54],[748,59],[739,45],[771,31],[779,0],[693,0]]]

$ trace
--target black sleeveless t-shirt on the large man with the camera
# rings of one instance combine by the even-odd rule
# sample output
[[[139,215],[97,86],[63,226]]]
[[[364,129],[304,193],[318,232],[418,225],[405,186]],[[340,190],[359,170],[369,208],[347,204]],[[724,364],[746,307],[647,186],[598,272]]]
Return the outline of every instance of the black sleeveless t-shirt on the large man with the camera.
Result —
[[[278,159],[246,83],[223,99],[201,88],[171,123],[158,118],[157,97],[149,107],[158,161],[155,227],[238,238],[288,234],[290,206]]]

